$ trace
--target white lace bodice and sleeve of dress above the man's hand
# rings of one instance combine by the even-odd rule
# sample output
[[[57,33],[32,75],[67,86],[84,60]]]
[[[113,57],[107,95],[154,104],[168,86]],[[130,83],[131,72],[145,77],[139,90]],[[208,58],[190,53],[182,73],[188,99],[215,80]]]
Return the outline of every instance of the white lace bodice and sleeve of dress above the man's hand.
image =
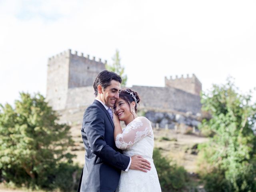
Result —
[[[152,158],[154,134],[150,121],[146,117],[137,117],[116,136],[116,147],[127,156],[140,154]]]

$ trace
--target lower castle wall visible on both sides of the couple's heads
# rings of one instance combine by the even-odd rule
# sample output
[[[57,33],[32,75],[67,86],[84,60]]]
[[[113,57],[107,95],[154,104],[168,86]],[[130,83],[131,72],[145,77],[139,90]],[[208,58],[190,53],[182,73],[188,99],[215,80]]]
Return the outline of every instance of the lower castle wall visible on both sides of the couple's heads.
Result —
[[[132,90],[140,96],[140,108],[158,111],[191,112],[196,115],[201,113],[200,96],[190,94],[175,88],[132,86]],[[95,99],[92,86],[71,88],[68,90],[66,109],[86,108]]]

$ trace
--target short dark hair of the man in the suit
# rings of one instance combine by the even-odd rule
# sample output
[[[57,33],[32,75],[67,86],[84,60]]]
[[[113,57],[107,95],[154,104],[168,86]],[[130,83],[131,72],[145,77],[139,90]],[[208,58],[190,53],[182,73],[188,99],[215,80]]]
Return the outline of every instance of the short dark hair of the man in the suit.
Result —
[[[98,96],[98,85],[101,85],[105,90],[107,86],[110,86],[110,81],[112,80],[122,83],[122,78],[118,74],[107,70],[100,72],[93,83],[94,95]]]

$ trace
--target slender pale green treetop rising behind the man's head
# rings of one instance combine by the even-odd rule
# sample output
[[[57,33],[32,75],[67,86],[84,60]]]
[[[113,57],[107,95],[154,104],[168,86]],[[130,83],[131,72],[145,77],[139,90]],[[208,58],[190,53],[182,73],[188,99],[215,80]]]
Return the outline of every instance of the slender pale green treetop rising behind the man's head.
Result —
[[[106,64],[106,69],[112,72],[115,72],[116,74],[120,75],[122,78],[122,87],[126,86],[126,82],[127,82],[127,76],[124,74],[124,67],[121,66],[120,64],[120,56],[119,56],[119,51],[116,50],[116,54],[112,57],[112,65],[108,65]]]

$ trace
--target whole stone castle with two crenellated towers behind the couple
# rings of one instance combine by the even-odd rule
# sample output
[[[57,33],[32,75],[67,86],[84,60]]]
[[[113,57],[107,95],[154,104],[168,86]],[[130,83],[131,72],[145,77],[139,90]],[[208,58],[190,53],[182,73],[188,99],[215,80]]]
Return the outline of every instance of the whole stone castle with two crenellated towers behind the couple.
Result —
[[[94,100],[92,84],[105,64],[83,53],[62,52],[48,59],[46,100],[60,113],[60,121],[80,123],[86,107]],[[165,87],[132,86],[138,92],[143,111],[153,126],[174,128],[177,123],[197,126],[201,114],[200,91],[202,84],[191,77],[166,78]]]

